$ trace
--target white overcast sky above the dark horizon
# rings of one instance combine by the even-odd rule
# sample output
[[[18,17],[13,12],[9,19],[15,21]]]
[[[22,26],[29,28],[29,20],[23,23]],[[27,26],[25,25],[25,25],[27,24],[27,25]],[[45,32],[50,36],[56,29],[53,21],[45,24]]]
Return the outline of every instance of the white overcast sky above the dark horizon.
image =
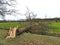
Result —
[[[26,12],[26,7],[28,7],[31,11],[37,14],[38,18],[52,18],[52,17],[60,17],[60,0],[16,0],[17,5],[16,8],[20,11],[20,13],[24,14]],[[6,16],[6,18],[10,19],[20,19],[25,18],[23,16]]]

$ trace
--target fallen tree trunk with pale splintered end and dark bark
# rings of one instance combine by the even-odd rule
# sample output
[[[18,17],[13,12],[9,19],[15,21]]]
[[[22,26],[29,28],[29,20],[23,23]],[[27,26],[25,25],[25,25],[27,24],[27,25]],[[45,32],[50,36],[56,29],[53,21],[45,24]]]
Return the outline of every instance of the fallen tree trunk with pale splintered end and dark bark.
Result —
[[[27,26],[27,27],[24,27],[24,28],[18,28],[18,27],[14,27],[14,28],[11,28],[9,29],[9,36],[6,37],[7,38],[15,38],[16,36],[24,33],[24,32],[27,32],[31,29],[31,26]]]

